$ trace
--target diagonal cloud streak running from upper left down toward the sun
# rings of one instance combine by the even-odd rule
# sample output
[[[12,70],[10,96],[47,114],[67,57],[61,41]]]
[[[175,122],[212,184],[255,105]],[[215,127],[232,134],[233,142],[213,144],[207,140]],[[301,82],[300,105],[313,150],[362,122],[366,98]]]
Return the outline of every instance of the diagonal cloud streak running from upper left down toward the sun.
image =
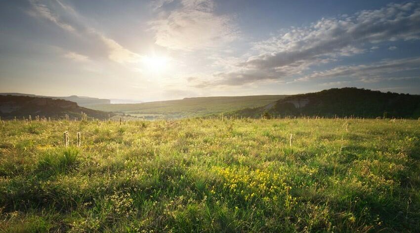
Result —
[[[135,63],[141,55],[130,51],[114,39],[106,37],[103,33],[86,25],[84,17],[79,15],[71,6],[59,0],[41,1],[30,0],[33,10],[30,14],[48,19],[60,28],[77,35],[79,38],[96,41],[96,46],[104,46],[107,57],[117,63]],[[80,54],[79,54],[80,55]],[[77,60],[75,54],[67,54],[67,58]],[[79,56],[79,60],[80,60]]]

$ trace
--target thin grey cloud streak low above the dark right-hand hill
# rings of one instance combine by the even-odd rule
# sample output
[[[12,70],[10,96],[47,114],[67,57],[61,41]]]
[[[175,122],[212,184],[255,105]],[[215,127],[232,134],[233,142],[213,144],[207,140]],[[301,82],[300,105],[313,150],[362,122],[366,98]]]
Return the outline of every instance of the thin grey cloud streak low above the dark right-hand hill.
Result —
[[[314,72],[305,77],[298,78],[297,80],[305,81],[316,78],[328,79],[340,77],[357,78],[363,82],[377,82],[379,80],[401,80],[407,79],[408,77],[389,76],[399,72],[418,70],[419,67],[420,57],[398,60],[383,60],[369,65],[339,66],[330,70]]]

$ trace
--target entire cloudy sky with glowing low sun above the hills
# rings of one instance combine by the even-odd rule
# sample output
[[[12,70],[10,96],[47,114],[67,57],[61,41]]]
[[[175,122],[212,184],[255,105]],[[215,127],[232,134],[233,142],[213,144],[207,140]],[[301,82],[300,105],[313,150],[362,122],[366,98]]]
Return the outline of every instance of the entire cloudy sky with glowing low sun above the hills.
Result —
[[[420,1],[2,0],[0,92],[420,94]]]

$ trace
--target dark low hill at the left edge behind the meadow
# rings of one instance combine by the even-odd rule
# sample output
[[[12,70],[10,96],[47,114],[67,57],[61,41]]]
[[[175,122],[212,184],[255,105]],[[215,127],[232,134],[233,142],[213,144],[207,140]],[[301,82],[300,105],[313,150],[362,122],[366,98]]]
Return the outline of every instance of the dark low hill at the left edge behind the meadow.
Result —
[[[81,112],[87,114],[88,117],[99,119],[107,119],[108,115],[114,116],[113,113],[106,113],[97,110],[91,110],[79,107],[77,103],[68,100],[40,98],[30,96],[16,95],[0,95],[0,116],[2,118],[21,118],[31,115],[40,117],[63,117],[66,114],[73,119],[81,116]]]

